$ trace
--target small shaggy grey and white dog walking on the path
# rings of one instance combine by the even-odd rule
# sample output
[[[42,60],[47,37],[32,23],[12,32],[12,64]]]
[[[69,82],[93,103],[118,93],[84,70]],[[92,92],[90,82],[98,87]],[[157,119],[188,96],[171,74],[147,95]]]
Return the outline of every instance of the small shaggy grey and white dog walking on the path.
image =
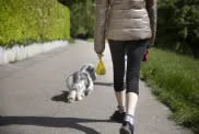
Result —
[[[80,70],[67,78],[69,89],[68,102],[80,101],[93,91],[93,81],[96,79],[95,68],[92,64],[83,65]]]

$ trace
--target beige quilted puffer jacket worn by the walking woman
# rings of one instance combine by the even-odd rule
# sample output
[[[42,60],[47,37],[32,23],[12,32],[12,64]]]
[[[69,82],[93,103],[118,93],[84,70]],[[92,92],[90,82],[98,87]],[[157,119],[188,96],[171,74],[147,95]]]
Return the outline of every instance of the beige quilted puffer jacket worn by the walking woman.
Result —
[[[96,0],[95,52],[105,49],[105,38],[138,41],[155,38],[156,0]]]

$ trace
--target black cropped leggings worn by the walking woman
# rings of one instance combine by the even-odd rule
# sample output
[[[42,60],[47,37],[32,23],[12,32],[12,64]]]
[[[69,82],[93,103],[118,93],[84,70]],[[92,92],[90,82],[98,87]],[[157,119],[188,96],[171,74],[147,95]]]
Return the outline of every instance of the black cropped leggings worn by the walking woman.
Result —
[[[124,77],[126,72],[127,92],[139,94],[140,66],[145,51],[145,40],[141,41],[113,41],[109,40],[114,67],[114,89],[124,91]],[[127,71],[125,69],[125,55],[127,55]]]

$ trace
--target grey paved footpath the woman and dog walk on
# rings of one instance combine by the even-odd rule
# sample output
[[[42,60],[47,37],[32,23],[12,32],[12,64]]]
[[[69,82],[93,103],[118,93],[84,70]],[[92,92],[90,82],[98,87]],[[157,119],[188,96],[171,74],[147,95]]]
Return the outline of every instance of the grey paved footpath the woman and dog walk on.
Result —
[[[105,76],[83,101],[67,103],[65,79],[83,64],[96,65],[93,43],[75,44],[0,66],[0,134],[118,134],[109,49]],[[168,120],[169,110],[140,82],[136,134],[191,134]]]

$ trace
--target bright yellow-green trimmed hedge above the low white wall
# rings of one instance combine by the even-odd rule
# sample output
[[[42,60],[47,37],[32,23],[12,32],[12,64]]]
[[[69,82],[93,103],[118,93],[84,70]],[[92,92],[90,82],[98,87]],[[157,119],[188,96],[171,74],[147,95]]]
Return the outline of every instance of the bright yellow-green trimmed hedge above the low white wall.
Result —
[[[57,0],[0,0],[0,45],[70,38],[70,11]]]

